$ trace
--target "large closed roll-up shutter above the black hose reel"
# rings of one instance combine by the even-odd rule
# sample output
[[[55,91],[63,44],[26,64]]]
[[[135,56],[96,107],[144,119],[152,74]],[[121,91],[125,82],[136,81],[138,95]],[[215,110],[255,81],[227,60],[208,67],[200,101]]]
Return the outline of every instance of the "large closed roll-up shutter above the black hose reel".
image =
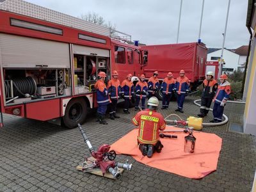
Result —
[[[1,65],[6,68],[70,68],[69,45],[0,33]]]

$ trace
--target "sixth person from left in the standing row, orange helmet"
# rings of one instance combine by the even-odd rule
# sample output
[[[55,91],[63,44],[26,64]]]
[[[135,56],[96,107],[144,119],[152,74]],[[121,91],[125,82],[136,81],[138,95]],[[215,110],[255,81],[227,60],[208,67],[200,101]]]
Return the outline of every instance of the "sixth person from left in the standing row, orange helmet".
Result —
[[[167,77],[164,78],[164,81],[161,84],[163,92],[163,104],[161,109],[168,109],[175,83],[176,81],[173,79],[172,72],[168,72]]]

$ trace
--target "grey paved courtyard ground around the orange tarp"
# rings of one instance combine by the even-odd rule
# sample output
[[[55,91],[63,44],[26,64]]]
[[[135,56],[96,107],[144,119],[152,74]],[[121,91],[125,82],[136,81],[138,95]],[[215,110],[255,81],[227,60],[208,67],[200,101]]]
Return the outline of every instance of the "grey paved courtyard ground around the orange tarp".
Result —
[[[196,116],[199,108],[188,97],[182,118]],[[164,116],[174,113],[176,103],[168,110],[159,109]],[[138,163],[130,156],[118,156],[117,161],[133,164],[121,180],[111,180],[76,170],[84,157],[90,156],[79,129],[4,115],[0,129],[0,191],[250,191],[256,169],[256,138],[229,131],[230,123],[242,124],[244,104],[230,104],[224,113],[228,124],[205,127],[223,139],[218,168],[203,179],[188,179]],[[120,119],[108,119],[108,125],[95,122],[95,114],[83,124],[93,147],[114,143],[131,131],[131,118],[122,113]],[[210,113],[205,122],[212,118]]]

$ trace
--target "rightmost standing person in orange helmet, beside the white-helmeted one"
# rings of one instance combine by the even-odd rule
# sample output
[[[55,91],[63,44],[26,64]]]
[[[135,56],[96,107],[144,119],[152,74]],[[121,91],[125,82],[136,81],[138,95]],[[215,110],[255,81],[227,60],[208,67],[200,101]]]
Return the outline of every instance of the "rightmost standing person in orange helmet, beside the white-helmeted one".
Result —
[[[228,76],[226,74],[220,76],[220,85],[218,86],[217,93],[212,100],[214,102],[212,109],[213,120],[210,120],[212,123],[218,123],[222,120],[224,106],[226,105],[231,92],[230,83],[227,81],[227,79]]]

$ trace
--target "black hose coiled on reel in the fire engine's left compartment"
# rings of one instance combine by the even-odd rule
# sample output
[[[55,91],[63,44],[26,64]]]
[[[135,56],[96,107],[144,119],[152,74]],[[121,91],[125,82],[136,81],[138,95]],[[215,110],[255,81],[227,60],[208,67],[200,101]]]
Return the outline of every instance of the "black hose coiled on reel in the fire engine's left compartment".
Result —
[[[13,83],[13,97],[29,97],[30,95],[35,95],[36,93],[36,82],[35,80],[28,76],[26,78],[15,78],[12,79]],[[10,84],[5,83],[5,88],[10,90]],[[6,90],[6,95],[7,95]]]

